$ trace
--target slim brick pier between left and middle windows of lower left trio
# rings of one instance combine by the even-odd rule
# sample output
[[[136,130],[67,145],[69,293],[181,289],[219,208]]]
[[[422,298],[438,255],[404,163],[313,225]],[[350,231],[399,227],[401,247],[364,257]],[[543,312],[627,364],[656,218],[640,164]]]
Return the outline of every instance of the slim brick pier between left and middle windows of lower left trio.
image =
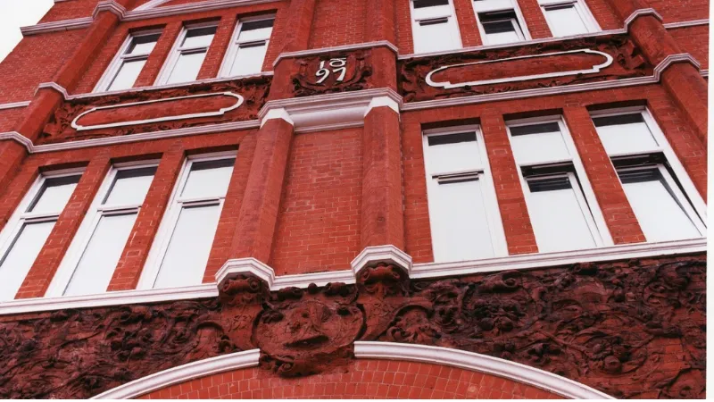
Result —
[[[70,247],[71,240],[79,229],[82,218],[87,214],[87,209],[95,197],[97,189],[102,184],[106,172],[109,170],[110,160],[108,152],[96,155],[82,173],[77,187],[74,189],[70,200],[65,205],[62,214],[54,229],[50,232],[45,246],[40,250],[35,263],[32,264],[25,281],[17,292],[15,298],[42,297],[54,277],[54,272],[62,262],[64,253]]]

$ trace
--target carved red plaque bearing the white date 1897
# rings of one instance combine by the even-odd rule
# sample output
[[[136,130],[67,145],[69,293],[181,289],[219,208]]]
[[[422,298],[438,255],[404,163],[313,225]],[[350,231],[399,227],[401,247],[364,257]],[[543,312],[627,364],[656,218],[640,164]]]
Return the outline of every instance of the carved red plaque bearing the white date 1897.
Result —
[[[313,96],[371,88],[371,52],[357,50],[305,57],[294,62],[292,76],[295,96]]]

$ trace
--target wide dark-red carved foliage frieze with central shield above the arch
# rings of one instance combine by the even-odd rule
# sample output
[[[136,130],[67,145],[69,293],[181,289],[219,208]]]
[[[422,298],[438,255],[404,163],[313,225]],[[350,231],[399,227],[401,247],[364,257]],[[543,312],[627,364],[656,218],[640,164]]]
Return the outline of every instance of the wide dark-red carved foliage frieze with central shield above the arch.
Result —
[[[436,345],[557,373],[618,398],[704,398],[706,256],[410,281],[398,267],[217,299],[0,317],[0,398],[87,398],[260,348],[265,375],[345,368],[354,340]]]

